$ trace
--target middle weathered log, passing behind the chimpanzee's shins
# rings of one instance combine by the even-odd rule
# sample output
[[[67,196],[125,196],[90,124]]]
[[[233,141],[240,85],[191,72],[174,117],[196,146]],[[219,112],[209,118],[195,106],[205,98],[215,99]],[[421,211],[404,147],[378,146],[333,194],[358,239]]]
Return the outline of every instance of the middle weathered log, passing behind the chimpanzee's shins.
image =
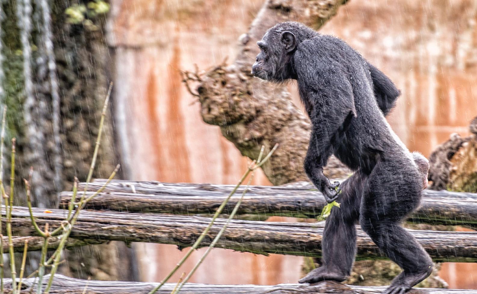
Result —
[[[3,210],[4,211],[4,210]],[[66,210],[33,209],[41,226],[60,225]],[[153,242],[190,246],[206,228],[210,218],[196,216],[136,214],[113,211],[82,211],[70,235],[74,239]],[[200,247],[207,246],[226,220],[218,219]],[[323,222],[231,221],[216,247],[258,254],[321,256]],[[28,209],[14,207],[15,231],[34,235]],[[477,262],[477,232],[409,230],[435,261]],[[371,239],[357,233],[358,259],[384,259]]]

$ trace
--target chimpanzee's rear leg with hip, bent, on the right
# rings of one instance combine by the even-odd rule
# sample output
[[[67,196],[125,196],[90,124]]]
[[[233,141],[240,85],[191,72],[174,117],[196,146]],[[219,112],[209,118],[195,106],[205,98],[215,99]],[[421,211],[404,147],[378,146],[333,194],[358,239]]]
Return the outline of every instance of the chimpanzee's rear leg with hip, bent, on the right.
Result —
[[[421,191],[419,171],[404,155],[380,161],[366,181],[361,227],[403,269],[383,294],[404,294],[432,272],[427,252],[401,227],[402,219],[419,205]]]

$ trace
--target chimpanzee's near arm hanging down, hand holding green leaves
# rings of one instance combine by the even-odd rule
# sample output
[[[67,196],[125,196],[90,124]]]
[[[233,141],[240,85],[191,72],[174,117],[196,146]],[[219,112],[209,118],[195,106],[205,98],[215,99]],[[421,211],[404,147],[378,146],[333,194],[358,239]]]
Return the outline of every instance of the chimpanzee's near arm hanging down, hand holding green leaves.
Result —
[[[310,56],[296,52],[295,62],[301,57]],[[320,59],[303,59],[297,65],[298,84],[302,99],[308,100],[312,131],[310,145],[304,162],[304,168],[313,184],[321,190],[328,202],[335,200],[338,184],[331,184],[323,175],[323,167],[333,152],[333,145],[343,137],[344,130],[351,122],[356,111],[353,88],[344,74],[341,64]]]

